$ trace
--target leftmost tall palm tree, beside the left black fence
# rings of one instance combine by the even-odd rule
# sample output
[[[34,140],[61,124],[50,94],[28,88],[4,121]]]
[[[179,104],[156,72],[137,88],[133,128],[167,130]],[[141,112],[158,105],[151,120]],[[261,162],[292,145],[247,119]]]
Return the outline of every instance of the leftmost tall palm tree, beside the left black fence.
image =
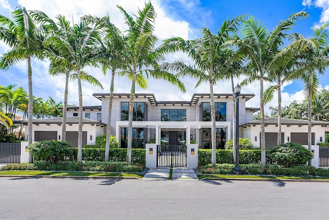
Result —
[[[32,67],[31,59],[38,56],[42,51],[40,32],[31,19],[29,11],[24,7],[17,7],[12,12],[13,21],[0,15],[0,39],[11,47],[9,52],[0,58],[0,68],[7,69],[10,66],[27,61],[27,76],[29,87],[28,100],[28,144],[32,143],[32,114],[33,114],[33,94],[32,94]],[[41,57],[41,56],[40,56]],[[32,161],[32,156],[29,156]]]

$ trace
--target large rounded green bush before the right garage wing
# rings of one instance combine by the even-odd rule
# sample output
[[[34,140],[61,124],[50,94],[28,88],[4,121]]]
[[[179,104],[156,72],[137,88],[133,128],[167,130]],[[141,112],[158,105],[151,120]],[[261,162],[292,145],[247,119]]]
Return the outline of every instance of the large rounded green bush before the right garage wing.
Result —
[[[268,150],[268,156],[285,167],[305,164],[313,158],[312,152],[299,143],[282,143]]]

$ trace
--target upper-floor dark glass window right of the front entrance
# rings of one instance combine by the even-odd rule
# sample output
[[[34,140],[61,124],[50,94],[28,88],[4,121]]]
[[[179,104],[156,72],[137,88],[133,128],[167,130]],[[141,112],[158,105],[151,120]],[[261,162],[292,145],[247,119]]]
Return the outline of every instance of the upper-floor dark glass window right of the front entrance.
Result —
[[[202,121],[211,121],[209,102],[201,104],[200,114]],[[226,121],[226,102],[215,102],[215,121]]]

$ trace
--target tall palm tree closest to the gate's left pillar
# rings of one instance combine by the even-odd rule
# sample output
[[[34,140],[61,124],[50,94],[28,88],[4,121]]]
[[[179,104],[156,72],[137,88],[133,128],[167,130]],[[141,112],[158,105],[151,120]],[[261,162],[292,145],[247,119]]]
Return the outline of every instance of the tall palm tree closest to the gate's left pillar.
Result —
[[[164,79],[173,85],[178,86],[185,91],[184,85],[173,74],[160,71],[158,69],[159,55],[154,51],[157,42],[154,31],[155,11],[151,4],[145,3],[143,10],[138,9],[136,20],[120,6],[118,6],[124,15],[125,24],[129,26],[126,35],[125,57],[127,58],[122,74],[130,74],[132,79],[132,88],[130,92],[129,120],[128,120],[128,144],[127,144],[127,164],[131,164],[132,150],[132,131],[133,131],[133,108],[135,96],[136,76],[146,74],[147,78]],[[148,69],[152,66],[153,70]]]

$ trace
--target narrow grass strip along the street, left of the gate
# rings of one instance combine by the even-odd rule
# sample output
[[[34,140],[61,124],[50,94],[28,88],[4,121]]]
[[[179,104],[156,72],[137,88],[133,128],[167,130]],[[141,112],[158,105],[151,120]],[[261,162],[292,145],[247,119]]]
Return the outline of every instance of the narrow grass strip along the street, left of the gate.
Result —
[[[143,174],[136,173],[97,173],[97,172],[55,172],[55,171],[0,171],[1,175],[23,175],[23,176],[104,176],[104,177],[137,177],[142,178]]]

